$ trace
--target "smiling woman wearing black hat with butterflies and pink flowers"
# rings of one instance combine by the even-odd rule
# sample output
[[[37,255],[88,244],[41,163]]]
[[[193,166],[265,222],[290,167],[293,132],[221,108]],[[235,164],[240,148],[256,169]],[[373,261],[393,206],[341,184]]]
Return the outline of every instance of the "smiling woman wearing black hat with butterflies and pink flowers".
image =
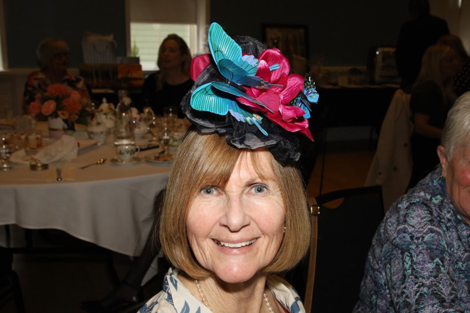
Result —
[[[311,134],[291,130],[293,122],[308,126],[306,107],[295,102],[304,95],[304,77],[289,73],[279,50],[265,49],[253,38],[232,40],[215,23],[209,38],[212,57],[220,62],[215,67],[205,55],[192,64],[198,69],[192,73],[198,74],[181,108],[193,126],[174,157],[160,218],[160,242],[174,268],[163,291],[141,312],[305,312],[297,292],[275,276],[293,268],[310,242],[311,221],[296,162],[298,136]],[[276,54],[279,64],[262,59],[262,51]],[[244,84],[268,84],[261,78],[271,76],[268,71],[286,86],[260,88],[256,95],[265,103],[254,110],[232,94],[211,89],[211,82],[222,82],[219,66],[226,76],[231,70],[237,73],[238,83],[230,85],[236,84],[236,90],[245,90]],[[290,80],[301,84],[288,84]],[[263,98],[272,86],[271,96]],[[195,94],[202,96],[193,108]],[[265,112],[274,105],[281,111],[300,110],[299,116],[281,123]],[[230,110],[225,115],[223,110],[205,111],[216,106]]]

